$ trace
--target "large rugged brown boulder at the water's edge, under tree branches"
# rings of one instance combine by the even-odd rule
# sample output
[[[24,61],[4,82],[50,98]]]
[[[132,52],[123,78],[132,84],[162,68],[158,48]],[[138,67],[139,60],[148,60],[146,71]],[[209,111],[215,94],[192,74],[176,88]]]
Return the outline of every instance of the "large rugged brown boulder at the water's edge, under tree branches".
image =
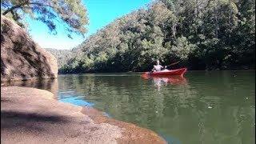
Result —
[[[22,27],[1,15],[1,82],[57,78],[57,59]]]

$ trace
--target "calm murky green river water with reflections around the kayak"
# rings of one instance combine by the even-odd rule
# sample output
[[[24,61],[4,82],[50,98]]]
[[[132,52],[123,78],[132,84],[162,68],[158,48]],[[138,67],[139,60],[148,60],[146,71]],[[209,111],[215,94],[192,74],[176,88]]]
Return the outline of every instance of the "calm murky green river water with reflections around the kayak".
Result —
[[[184,78],[68,74],[54,90],[61,102],[93,106],[169,143],[255,143],[254,70],[188,71]]]

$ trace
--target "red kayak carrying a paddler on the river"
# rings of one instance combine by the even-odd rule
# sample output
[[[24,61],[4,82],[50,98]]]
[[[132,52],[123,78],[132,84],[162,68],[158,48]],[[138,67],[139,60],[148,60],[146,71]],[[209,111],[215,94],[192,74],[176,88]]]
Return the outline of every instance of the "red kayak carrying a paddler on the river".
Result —
[[[145,72],[142,75],[158,76],[158,75],[181,75],[186,73],[186,68],[176,69],[176,70],[161,70],[154,72]]]

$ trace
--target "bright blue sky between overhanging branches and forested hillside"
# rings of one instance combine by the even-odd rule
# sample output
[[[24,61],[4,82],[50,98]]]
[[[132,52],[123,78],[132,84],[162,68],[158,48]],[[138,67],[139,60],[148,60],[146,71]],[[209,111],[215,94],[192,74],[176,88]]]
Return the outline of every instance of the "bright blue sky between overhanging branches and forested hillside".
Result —
[[[94,34],[103,26],[113,22],[114,19],[129,14],[133,10],[146,7],[151,0],[83,0],[82,2],[86,6],[90,21],[85,37],[87,38],[90,34]],[[30,35],[43,48],[72,49],[85,40],[78,35],[73,39],[67,38],[60,23],[57,25],[58,34],[54,35],[50,34],[50,30],[42,22],[33,20],[29,20],[29,22]]]

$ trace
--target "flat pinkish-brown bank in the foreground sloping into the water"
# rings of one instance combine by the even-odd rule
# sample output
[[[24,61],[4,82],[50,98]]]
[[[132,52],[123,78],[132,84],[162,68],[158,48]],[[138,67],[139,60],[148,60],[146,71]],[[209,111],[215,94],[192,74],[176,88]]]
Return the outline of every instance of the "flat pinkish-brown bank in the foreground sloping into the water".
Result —
[[[1,87],[3,143],[166,143],[151,130],[30,87]]]

